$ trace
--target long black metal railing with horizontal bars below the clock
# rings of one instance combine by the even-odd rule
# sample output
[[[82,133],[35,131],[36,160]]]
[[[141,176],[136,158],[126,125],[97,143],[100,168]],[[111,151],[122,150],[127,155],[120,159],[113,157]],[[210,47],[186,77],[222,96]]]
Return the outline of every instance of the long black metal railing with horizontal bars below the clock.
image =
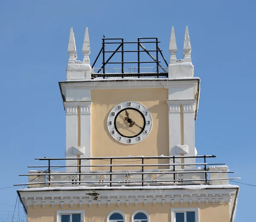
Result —
[[[221,163],[207,163],[207,158],[215,157],[213,155],[207,156],[157,156],[157,157],[92,157],[92,158],[36,158],[39,160],[46,160],[48,162],[47,165],[37,165],[37,166],[29,166],[29,168],[47,168],[44,171],[37,171],[32,172],[29,174],[21,174],[20,176],[30,176],[32,177],[29,179],[29,183],[26,184],[17,184],[17,185],[45,185],[45,186],[51,186],[51,185],[163,185],[167,184],[177,184],[177,183],[183,183],[183,184],[195,184],[195,183],[203,183],[203,184],[209,184],[210,181],[213,180],[228,180],[228,179],[240,179],[240,178],[215,178],[211,179],[208,178],[209,173],[223,173],[223,171],[220,170],[211,170],[209,171],[207,169],[207,165],[224,165]],[[201,163],[180,163],[177,160],[183,159],[183,158],[203,158],[204,162]],[[51,165],[52,161],[55,160],[76,160],[77,164],[73,165]],[[128,164],[126,162],[123,162],[124,164],[113,164],[115,160],[129,160],[135,159],[136,161],[141,161],[141,164]],[[169,163],[157,163],[157,164],[145,164],[144,162],[150,159],[166,159]],[[110,164],[89,164],[89,165],[81,165],[82,162],[87,160],[104,160],[104,161],[110,161]],[[202,165],[203,168],[196,168],[195,166]],[[71,167],[74,168],[74,171],[52,171],[56,168],[65,168],[65,167]],[[89,168],[109,168],[109,170],[105,171],[83,171],[82,169],[84,167]],[[127,167],[127,170],[113,170],[113,168],[119,168],[119,167]],[[139,169],[131,169],[137,167]],[[145,169],[148,167],[168,167],[164,169]],[[178,167],[178,168],[177,168]],[[186,167],[186,168],[185,168]],[[185,168],[185,169],[184,169]],[[218,169],[218,168],[217,168]],[[40,174],[38,174],[40,173]],[[225,171],[224,173],[233,173],[230,171]],[[151,179],[147,176],[150,176]],[[141,179],[135,178],[131,179],[132,176],[139,176]],[[155,175],[155,178],[152,179],[152,175]],[[156,175],[160,176],[169,176],[167,179],[157,179]],[[171,176],[172,175],[172,176]],[[187,176],[191,175],[191,176]],[[198,177],[195,178],[195,175]],[[35,180],[38,177],[45,177],[45,181],[43,182],[36,182]],[[63,176],[63,177],[61,177]],[[94,181],[91,180],[92,177],[85,177],[85,176],[94,176],[96,178]],[[116,176],[116,179],[114,180],[113,176]],[[119,178],[117,178],[119,176]],[[146,178],[144,178],[146,177]],[[192,178],[194,177],[194,178]],[[40,180],[41,181],[41,180]]]

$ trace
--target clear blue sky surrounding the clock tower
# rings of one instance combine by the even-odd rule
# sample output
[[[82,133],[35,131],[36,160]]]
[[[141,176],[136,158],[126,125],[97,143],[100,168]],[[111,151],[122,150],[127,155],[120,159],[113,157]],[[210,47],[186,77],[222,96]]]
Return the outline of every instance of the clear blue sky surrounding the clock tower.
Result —
[[[92,64],[103,34],[129,41],[158,37],[168,61],[172,26],[177,58],[182,58],[188,26],[195,76],[201,78],[195,122],[198,154],[217,155],[215,162],[235,172],[230,176],[256,185],[256,77],[251,61],[256,51],[255,7],[252,0],[2,1],[0,188],[26,182],[18,174],[38,165],[35,157],[64,156],[65,114],[58,81],[66,76],[70,27],[79,60],[88,27]],[[255,219],[255,191],[240,185],[236,222]],[[16,188],[0,189],[0,221],[12,214],[8,211],[14,207],[8,205],[15,205],[16,196]]]

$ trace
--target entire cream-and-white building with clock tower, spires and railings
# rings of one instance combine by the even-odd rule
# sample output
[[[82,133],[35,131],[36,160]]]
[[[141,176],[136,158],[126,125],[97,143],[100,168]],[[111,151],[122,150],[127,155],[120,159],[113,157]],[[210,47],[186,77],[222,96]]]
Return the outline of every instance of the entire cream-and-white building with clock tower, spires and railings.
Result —
[[[155,48],[147,50],[149,43]],[[207,164],[215,156],[199,156],[195,148],[200,79],[188,28],[183,60],[176,59],[174,28],[166,67],[158,43],[104,37],[96,69],[88,29],[79,61],[71,28],[67,79],[59,82],[65,157],[39,158],[44,165],[23,174],[29,182],[17,193],[29,222],[233,222],[239,187],[228,180],[235,178],[228,178],[227,166]],[[111,51],[108,44],[118,47]],[[137,50],[125,51],[129,44]],[[124,61],[128,52],[136,53],[136,62]],[[142,52],[151,61],[142,61]],[[121,62],[109,62],[114,54]],[[137,67],[127,71],[126,63]],[[142,67],[148,63],[156,67]],[[113,64],[121,68],[106,68]]]

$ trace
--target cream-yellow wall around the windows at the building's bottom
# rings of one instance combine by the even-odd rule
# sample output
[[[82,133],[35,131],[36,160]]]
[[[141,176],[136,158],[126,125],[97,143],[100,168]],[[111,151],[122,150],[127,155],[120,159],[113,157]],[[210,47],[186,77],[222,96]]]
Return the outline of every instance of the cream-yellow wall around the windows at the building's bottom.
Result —
[[[138,206],[130,204],[126,207],[125,204],[121,204],[120,207],[112,204],[110,207],[107,205],[92,205],[91,208],[88,205],[83,205],[82,208],[79,208],[79,205],[73,205],[73,208],[70,208],[70,205],[64,205],[63,208],[60,205],[55,205],[54,208],[51,208],[50,205],[46,205],[45,208],[37,206],[37,208],[28,209],[28,221],[29,222],[57,222],[57,210],[84,210],[84,222],[107,222],[108,213],[113,210],[122,211],[126,216],[126,222],[131,222],[131,215],[134,211],[144,210],[149,214],[150,222],[172,222],[171,221],[171,208],[199,208],[199,219],[200,222],[230,222],[229,214],[229,205],[227,202],[223,202],[222,205],[216,203],[215,205],[209,204],[206,205],[204,202],[201,205],[193,203],[175,203],[174,206],[171,206],[170,203],[166,203],[165,206],[162,206],[161,203],[157,203],[157,206],[153,206],[152,203],[148,203],[147,206],[144,206],[142,203],[139,203]],[[181,209],[182,210],[182,209]],[[47,212],[47,213],[46,213]]]

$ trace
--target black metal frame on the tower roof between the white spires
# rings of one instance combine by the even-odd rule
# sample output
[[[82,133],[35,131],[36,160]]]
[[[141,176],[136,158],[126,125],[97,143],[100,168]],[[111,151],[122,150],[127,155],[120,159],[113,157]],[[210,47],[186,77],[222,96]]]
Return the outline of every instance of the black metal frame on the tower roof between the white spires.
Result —
[[[113,42],[114,40],[114,42]],[[142,40],[142,41],[141,41]],[[151,43],[151,44],[155,44],[155,49],[152,50],[148,50],[145,48],[145,46],[143,46],[144,43]],[[158,41],[158,38],[154,37],[154,38],[138,38],[137,42],[124,42],[123,38],[103,38],[102,39],[102,48],[99,51],[98,56],[96,57],[96,60],[94,61],[92,68],[94,68],[94,65],[96,64],[96,61],[98,60],[100,54],[102,54],[102,66],[101,68],[99,68],[96,73],[92,73],[91,77],[92,78],[96,78],[96,77],[134,77],[134,75],[131,74],[125,74],[125,68],[124,68],[124,64],[137,64],[137,75],[136,77],[140,78],[140,77],[159,77],[159,73],[161,73],[160,76],[164,76],[164,77],[168,77],[168,70],[167,68],[163,67],[160,63],[161,61],[159,60],[159,57],[161,56],[163,58],[164,63],[166,64],[166,66],[168,66],[168,63],[166,62],[165,57],[163,56],[162,50],[159,48],[158,43],[160,43]],[[117,44],[117,48],[114,51],[107,51],[105,50],[106,46],[108,44]],[[124,45],[137,45],[137,50],[124,50]],[[124,60],[124,54],[125,53],[137,53],[137,61],[125,61]],[[141,60],[141,53],[146,53],[148,54],[148,56],[151,58],[150,61],[143,61]],[[151,52],[155,52],[155,57],[151,54]],[[106,54],[111,53],[111,55],[108,57],[108,59],[106,59]],[[112,59],[112,57],[116,54],[116,53],[121,53],[121,61],[119,62],[110,62],[110,60]],[[160,55],[160,56],[159,56]],[[141,68],[143,64],[145,63],[155,63],[156,64],[156,72],[151,72],[148,73],[147,75],[145,74],[141,74]],[[107,64],[121,64],[121,68],[120,68],[120,73],[119,75],[117,74],[106,74],[106,69],[105,66]],[[162,71],[160,71],[162,70]]]

